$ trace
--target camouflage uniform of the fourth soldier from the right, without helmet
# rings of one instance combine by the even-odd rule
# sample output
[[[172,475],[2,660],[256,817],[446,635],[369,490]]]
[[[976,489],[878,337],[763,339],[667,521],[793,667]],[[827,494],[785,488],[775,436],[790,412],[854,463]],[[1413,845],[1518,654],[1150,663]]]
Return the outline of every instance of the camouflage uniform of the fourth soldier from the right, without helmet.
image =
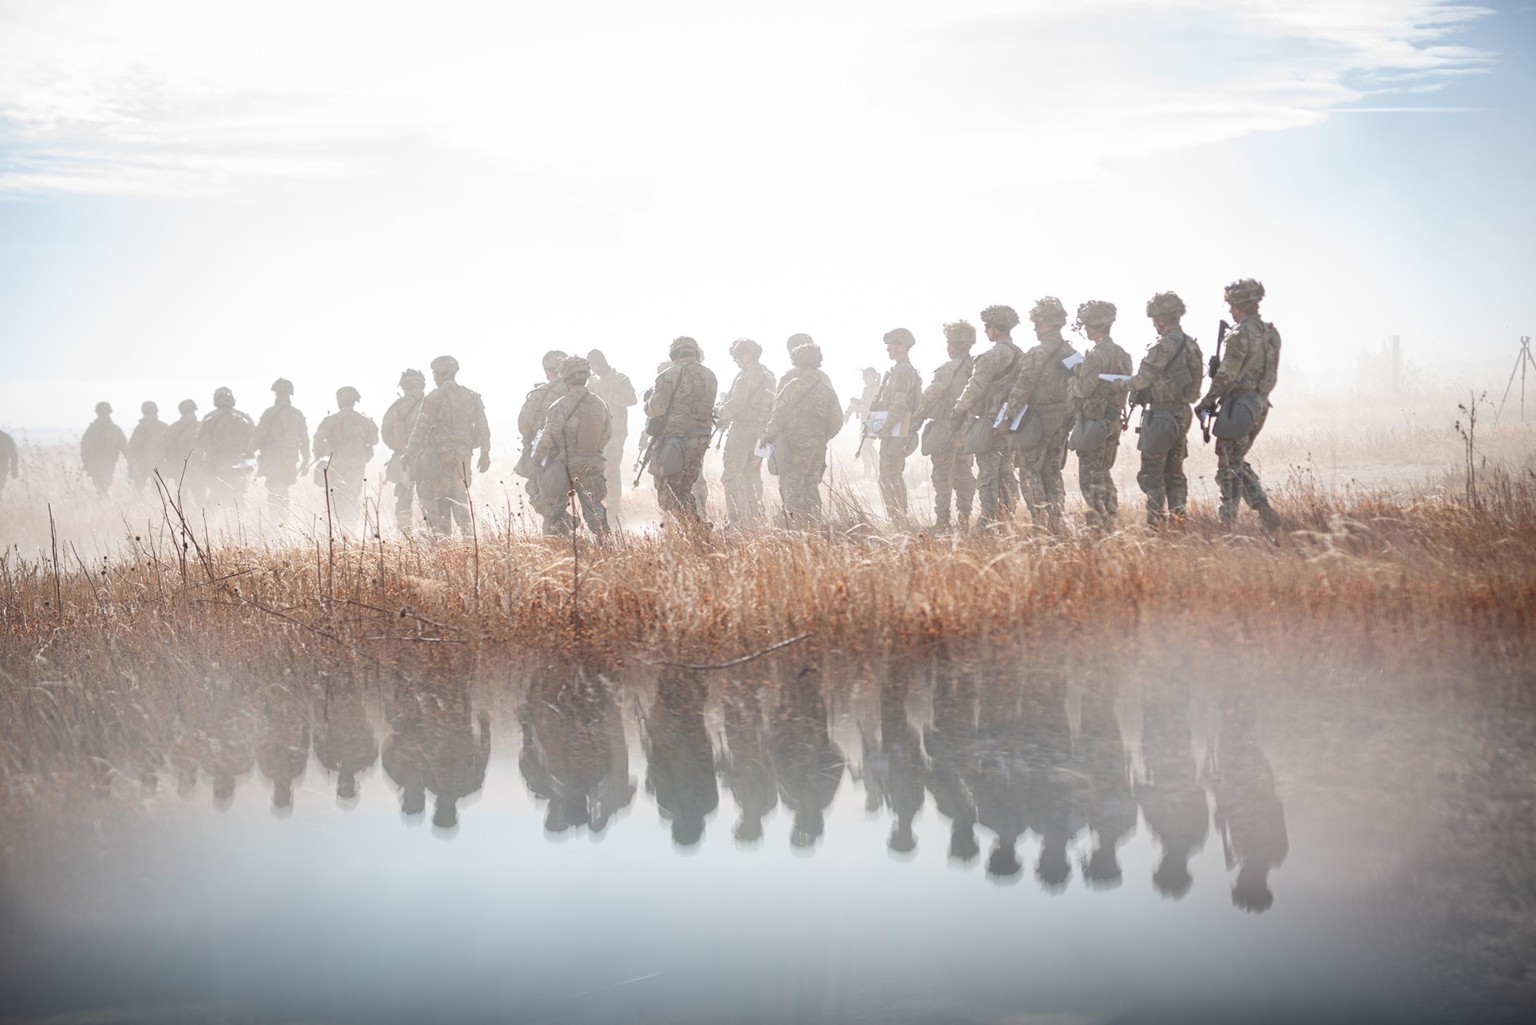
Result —
[[[1066,503],[1061,464],[1066,463],[1066,433],[1071,426],[1068,413],[1072,409],[1068,398],[1072,370],[1066,361],[1075,355],[1077,350],[1061,337],[1061,329],[1048,326],[1044,338],[1020,357],[1018,375],[1008,395],[1009,421],[1026,406],[1026,418],[1040,420],[1043,441],[1032,449],[1018,450],[1014,458],[1018,466],[1018,490],[1029,509],[1031,522],[1037,527],[1049,526],[1051,530],[1060,530]],[[1020,429],[1023,427],[1025,423],[1020,421]]]

